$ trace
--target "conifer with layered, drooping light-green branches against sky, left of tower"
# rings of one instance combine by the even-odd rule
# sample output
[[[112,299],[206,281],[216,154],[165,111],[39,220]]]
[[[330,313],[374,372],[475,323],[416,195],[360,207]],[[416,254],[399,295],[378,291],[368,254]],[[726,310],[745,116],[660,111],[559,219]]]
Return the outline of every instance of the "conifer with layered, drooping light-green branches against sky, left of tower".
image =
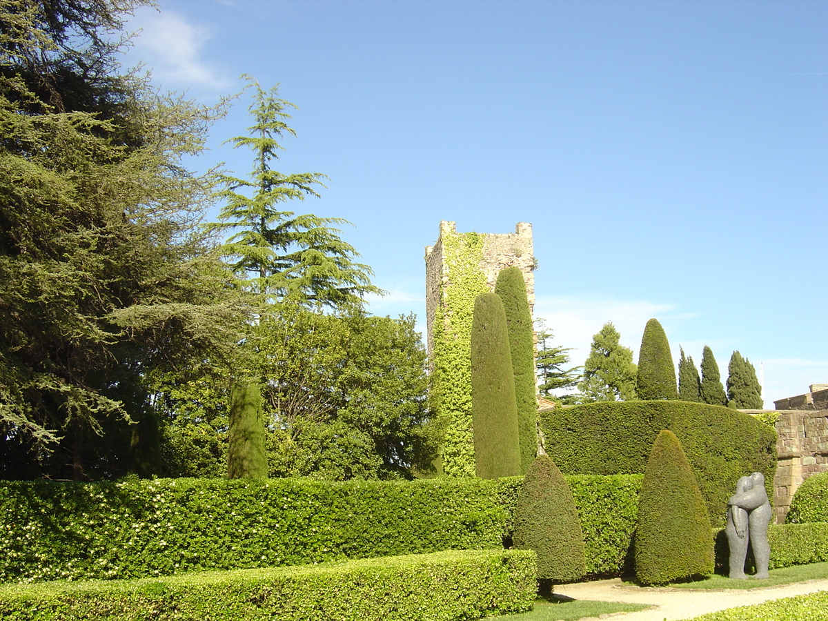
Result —
[[[249,111],[255,123],[250,136],[234,137],[233,147],[248,147],[254,157],[250,179],[219,175],[225,205],[219,222],[209,230],[233,233],[221,247],[233,271],[258,293],[269,299],[289,298],[309,306],[354,308],[363,305],[367,293],[384,291],[371,284],[373,271],[354,262],[359,253],[339,237],[335,224],[350,224],[341,218],[320,218],[283,211],[288,200],[319,196],[324,175],[305,172],[283,175],[271,164],[282,149],[285,134],[296,135],[286,120],[292,103],[278,99],[277,87],[262,89],[246,76],[253,88]],[[244,194],[248,190],[251,195]]]

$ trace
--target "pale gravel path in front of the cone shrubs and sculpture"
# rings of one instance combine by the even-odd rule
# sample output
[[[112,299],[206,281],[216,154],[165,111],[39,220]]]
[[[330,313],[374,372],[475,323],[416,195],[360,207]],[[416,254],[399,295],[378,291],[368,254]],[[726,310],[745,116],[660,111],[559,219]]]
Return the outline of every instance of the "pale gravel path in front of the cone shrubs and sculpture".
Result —
[[[828,580],[807,580],[791,585],[768,586],[752,590],[689,590],[656,589],[624,585],[619,578],[558,585],[556,595],[573,599],[597,599],[605,602],[631,602],[653,604],[656,609],[636,613],[618,613],[612,619],[618,621],[662,621],[662,619],[692,619],[700,614],[761,604],[768,599],[805,595],[828,590]]]

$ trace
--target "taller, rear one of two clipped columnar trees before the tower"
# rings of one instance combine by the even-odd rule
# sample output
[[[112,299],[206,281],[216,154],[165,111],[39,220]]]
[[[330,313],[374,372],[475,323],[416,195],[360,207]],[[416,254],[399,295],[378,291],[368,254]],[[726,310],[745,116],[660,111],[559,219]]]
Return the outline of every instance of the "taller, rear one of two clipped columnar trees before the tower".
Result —
[[[515,376],[521,473],[525,473],[537,457],[537,383],[532,312],[529,310],[526,281],[523,280],[520,268],[507,267],[501,270],[494,292],[500,296],[506,311],[506,329]]]

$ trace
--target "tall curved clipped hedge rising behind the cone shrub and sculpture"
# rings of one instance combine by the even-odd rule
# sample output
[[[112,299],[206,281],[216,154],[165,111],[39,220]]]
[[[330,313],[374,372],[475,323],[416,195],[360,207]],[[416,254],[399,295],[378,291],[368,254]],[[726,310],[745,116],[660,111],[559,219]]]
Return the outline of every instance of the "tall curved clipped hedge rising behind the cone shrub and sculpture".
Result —
[[[776,431],[753,416],[680,401],[588,403],[541,415],[546,452],[564,474],[643,473],[658,431],[673,431],[715,526],[744,473],[776,473]],[[773,489],[769,490],[773,493]]]

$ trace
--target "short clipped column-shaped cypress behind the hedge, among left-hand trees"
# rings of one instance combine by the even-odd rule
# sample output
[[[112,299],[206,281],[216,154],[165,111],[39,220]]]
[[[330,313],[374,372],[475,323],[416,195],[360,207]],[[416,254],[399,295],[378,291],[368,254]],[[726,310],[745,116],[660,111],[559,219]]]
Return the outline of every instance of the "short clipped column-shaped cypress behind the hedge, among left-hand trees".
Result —
[[[258,383],[238,382],[230,388],[230,424],[227,447],[229,479],[267,476],[267,452]]]

